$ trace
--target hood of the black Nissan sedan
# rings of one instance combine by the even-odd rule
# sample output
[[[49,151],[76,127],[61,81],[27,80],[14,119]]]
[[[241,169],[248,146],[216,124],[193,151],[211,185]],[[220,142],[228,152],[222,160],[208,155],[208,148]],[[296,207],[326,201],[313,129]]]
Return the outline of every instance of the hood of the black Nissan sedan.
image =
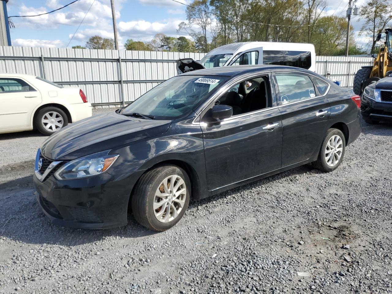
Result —
[[[72,123],[51,135],[41,153],[52,160],[73,160],[144,138],[158,136],[169,129],[170,120],[147,120],[114,111]]]

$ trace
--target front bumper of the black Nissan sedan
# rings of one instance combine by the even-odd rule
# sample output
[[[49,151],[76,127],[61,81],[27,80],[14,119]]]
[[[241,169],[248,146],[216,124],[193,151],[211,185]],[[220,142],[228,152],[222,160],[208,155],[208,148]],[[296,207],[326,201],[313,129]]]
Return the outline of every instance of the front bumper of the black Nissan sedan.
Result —
[[[127,224],[128,201],[139,173],[117,180],[105,172],[90,178],[44,181],[34,174],[36,199],[52,223],[81,229],[109,229]]]

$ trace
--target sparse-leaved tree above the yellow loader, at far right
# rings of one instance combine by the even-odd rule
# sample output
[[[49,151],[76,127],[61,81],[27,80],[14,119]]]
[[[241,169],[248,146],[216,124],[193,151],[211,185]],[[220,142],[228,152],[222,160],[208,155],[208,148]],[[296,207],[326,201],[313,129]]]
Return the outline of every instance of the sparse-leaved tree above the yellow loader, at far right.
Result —
[[[372,38],[371,53],[374,52],[377,35],[385,30],[388,22],[392,20],[392,11],[390,9],[389,0],[370,0],[362,5],[359,16],[361,20],[365,20],[359,31],[360,35]]]

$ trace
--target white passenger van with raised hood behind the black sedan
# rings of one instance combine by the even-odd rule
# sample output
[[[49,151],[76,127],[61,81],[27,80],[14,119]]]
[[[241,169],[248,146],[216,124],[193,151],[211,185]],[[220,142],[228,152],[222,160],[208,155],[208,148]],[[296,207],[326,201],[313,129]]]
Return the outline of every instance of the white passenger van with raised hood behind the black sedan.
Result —
[[[316,71],[313,44],[278,42],[240,42],[211,50],[200,62],[192,58],[177,60],[179,74],[197,69],[249,64],[274,64]]]

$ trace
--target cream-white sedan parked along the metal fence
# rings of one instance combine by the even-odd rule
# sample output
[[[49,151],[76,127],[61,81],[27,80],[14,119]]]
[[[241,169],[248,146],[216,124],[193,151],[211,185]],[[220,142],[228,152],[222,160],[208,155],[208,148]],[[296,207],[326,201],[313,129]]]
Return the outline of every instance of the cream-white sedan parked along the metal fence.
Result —
[[[49,136],[91,115],[91,103],[79,88],[27,74],[0,74],[0,133],[36,128]]]

